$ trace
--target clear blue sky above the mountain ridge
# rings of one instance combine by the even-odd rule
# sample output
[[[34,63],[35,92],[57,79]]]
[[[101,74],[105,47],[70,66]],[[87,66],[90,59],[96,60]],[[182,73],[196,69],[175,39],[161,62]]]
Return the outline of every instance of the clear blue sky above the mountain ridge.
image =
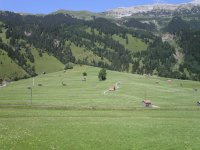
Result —
[[[103,12],[117,7],[153,4],[158,0],[0,0],[0,10],[32,14],[48,14],[59,9]],[[159,0],[160,3],[179,4],[192,0]]]

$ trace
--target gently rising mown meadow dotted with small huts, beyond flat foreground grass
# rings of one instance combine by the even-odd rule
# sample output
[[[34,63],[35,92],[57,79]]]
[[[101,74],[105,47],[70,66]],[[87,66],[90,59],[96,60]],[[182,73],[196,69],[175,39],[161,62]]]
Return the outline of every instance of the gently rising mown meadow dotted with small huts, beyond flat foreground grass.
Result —
[[[99,70],[94,67],[76,66],[73,70],[66,72],[61,71],[35,77],[33,103],[77,108],[132,109],[141,107],[141,101],[146,97],[161,108],[194,108],[196,101],[200,98],[198,96],[200,91],[193,90],[200,88],[199,82],[172,80],[171,83],[168,83],[166,78],[145,77],[113,71],[108,71],[108,80],[100,82],[98,81]],[[87,82],[82,81],[82,72],[84,71],[88,73]],[[62,86],[62,82],[67,86]],[[121,82],[120,88],[116,92],[104,94],[116,82]],[[42,84],[42,86],[38,87],[37,84]],[[20,93],[27,92],[26,88],[31,85],[32,79],[27,79],[1,89],[0,102],[18,104],[15,103],[15,100],[26,100],[27,94]],[[17,89],[19,97],[14,93],[11,94],[13,88]],[[22,102],[26,104],[26,101]]]

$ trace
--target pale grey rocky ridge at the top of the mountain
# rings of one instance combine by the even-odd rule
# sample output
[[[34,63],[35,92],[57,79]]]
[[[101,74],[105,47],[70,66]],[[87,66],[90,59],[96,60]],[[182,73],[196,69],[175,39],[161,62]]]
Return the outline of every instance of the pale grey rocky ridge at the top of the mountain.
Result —
[[[196,9],[200,12],[200,0],[194,0],[190,3],[183,4],[152,4],[134,7],[120,7],[106,12],[107,16],[115,18],[122,18],[132,15],[159,15],[167,16],[174,15],[177,13],[197,13]]]

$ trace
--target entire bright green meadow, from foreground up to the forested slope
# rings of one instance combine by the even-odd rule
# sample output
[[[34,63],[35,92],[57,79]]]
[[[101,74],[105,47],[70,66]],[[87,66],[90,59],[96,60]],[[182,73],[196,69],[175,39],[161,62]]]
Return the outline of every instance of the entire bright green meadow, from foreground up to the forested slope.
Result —
[[[199,149],[199,82],[113,71],[100,82],[99,70],[35,77],[32,106],[33,79],[1,88],[0,149]],[[119,89],[104,94],[116,82]],[[144,108],[145,98],[160,108]]]

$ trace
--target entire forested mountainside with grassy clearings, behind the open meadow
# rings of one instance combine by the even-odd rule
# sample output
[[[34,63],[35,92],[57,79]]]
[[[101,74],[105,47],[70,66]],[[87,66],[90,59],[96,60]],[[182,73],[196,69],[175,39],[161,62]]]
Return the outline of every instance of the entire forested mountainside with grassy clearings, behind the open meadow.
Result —
[[[190,45],[185,37],[187,32],[182,32],[192,30],[191,34],[196,35],[200,27],[198,20],[168,18],[167,26],[162,27],[164,23],[160,18],[150,22],[144,19],[93,17],[82,20],[67,13],[36,16],[0,12],[0,49],[19,70],[23,70],[21,76],[12,74],[9,78],[62,70],[71,62],[116,71],[200,80],[199,55],[193,56],[196,51],[199,53],[198,44]],[[172,41],[181,52],[170,41],[162,39],[165,33],[174,35]],[[193,36],[193,42],[198,42],[197,37]],[[177,59],[178,52],[184,55],[184,62]],[[6,65],[1,67],[5,69]]]

